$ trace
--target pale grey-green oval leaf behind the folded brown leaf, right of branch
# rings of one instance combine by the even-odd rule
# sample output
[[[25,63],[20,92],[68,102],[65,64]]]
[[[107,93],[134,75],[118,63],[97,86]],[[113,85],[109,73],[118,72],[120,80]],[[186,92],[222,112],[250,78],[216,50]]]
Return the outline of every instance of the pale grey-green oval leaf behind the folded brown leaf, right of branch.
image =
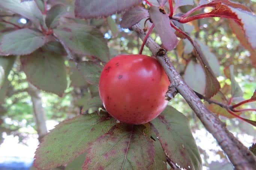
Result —
[[[200,64],[190,60],[185,73],[183,75],[184,81],[196,92],[200,94],[205,93],[206,76]]]

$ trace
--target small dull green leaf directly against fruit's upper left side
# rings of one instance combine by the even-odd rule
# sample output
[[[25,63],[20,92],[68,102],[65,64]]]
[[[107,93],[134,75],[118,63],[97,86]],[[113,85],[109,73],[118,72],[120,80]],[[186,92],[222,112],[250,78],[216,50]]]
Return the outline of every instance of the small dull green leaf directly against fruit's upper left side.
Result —
[[[84,61],[78,64],[78,69],[82,73],[83,78],[90,84],[98,84],[99,76],[103,69],[102,66],[92,61]]]

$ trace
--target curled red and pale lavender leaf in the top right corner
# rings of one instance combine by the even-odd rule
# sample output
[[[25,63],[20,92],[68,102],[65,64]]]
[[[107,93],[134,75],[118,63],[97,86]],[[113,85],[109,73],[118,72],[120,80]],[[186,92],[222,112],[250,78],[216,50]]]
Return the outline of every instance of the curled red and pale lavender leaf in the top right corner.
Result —
[[[202,7],[211,6],[215,7],[214,10],[209,12],[215,16],[229,16],[236,19],[236,22],[241,25],[245,32],[245,37],[250,42],[251,46],[256,48],[256,15],[251,10],[242,4],[233,3],[229,0],[213,0],[208,4],[203,4]]]

